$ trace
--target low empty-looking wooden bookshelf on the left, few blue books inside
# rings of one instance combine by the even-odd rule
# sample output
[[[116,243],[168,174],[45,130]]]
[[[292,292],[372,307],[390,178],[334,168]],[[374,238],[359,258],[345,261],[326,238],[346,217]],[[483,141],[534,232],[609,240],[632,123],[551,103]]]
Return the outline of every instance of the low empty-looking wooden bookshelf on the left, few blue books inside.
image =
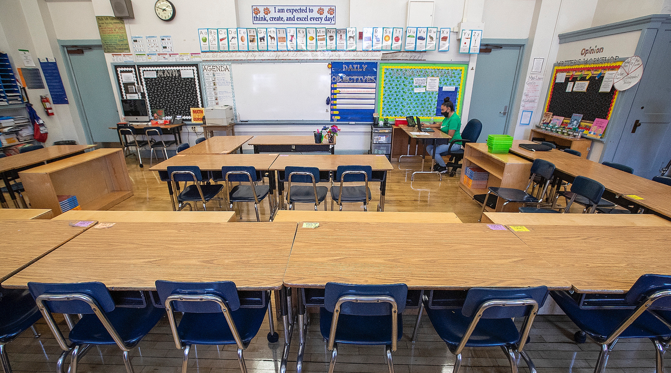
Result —
[[[74,195],[83,210],[107,210],[133,195],[121,149],[99,149],[19,172],[34,209],[60,215],[58,195]]]

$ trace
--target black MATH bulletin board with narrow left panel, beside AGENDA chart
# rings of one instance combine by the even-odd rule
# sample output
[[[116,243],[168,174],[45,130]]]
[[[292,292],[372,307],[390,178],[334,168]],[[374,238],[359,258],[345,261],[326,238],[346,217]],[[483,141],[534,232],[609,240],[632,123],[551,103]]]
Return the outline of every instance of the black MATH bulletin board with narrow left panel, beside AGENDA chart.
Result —
[[[129,83],[123,83],[119,72],[135,70],[136,85],[142,87],[148,109],[164,109],[166,115],[183,115],[191,119],[192,107],[203,107],[198,64],[142,64],[116,66],[117,82],[125,98]]]

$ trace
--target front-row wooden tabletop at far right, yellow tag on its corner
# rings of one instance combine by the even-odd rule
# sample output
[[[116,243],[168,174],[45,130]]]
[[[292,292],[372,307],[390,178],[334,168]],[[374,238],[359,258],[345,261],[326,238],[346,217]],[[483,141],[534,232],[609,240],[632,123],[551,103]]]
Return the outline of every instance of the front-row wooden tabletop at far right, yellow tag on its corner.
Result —
[[[577,292],[624,293],[643,274],[671,274],[668,227],[524,226],[515,235]]]

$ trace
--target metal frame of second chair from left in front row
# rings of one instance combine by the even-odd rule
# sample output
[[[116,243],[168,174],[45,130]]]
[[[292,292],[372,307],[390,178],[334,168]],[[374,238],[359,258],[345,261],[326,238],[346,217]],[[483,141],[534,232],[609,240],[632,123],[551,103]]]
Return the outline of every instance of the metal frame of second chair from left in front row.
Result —
[[[73,292],[70,294],[43,294],[37,297],[35,301],[38,305],[38,308],[40,309],[40,312],[42,313],[42,316],[44,317],[44,320],[46,321],[47,325],[49,325],[49,329],[51,329],[52,333],[54,334],[54,338],[58,342],[60,348],[63,350],[63,353],[60,354],[60,358],[58,358],[58,362],[56,362],[56,373],[63,373],[63,364],[68,354],[70,354],[70,368],[68,368],[68,373],[76,373],[77,363],[87,353],[89,348],[91,348],[91,344],[68,344],[65,341],[65,338],[63,337],[60,329],[58,328],[58,325],[56,325],[56,321],[54,321],[54,317],[51,315],[51,311],[49,311],[48,307],[44,304],[45,301],[83,301],[87,303],[87,305],[91,307],[91,310],[96,315],[96,317],[98,317],[101,324],[103,324],[103,327],[105,327],[107,333],[109,333],[119,349],[123,351],[123,364],[125,364],[126,372],[134,373],[133,366],[130,362],[130,352],[135,348],[137,343],[126,345],[123,342],[123,339],[121,339],[119,333],[117,333],[116,329],[114,329],[112,324],[109,322],[109,319],[107,319],[107,315],[105,315],[105,312],[102,311],[100,305],[93,297],[79,292]],[[71,322],[72,321],[70,320],[70,323]],[[68,327],[70,326],[70,323],[68,323]],[[70,329],[72,329],[72,327],[70,327]]]

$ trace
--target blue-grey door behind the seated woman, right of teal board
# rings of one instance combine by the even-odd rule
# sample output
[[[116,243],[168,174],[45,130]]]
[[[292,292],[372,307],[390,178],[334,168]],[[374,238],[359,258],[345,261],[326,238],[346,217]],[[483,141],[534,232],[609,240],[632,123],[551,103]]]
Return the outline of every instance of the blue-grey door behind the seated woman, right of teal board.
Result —
[[[468,120],[480,119],[482,122],[479,142],[484,142],[491,134],[507,132],[521,58],[521,46],[492,48],[491,52],[478,54]]]

